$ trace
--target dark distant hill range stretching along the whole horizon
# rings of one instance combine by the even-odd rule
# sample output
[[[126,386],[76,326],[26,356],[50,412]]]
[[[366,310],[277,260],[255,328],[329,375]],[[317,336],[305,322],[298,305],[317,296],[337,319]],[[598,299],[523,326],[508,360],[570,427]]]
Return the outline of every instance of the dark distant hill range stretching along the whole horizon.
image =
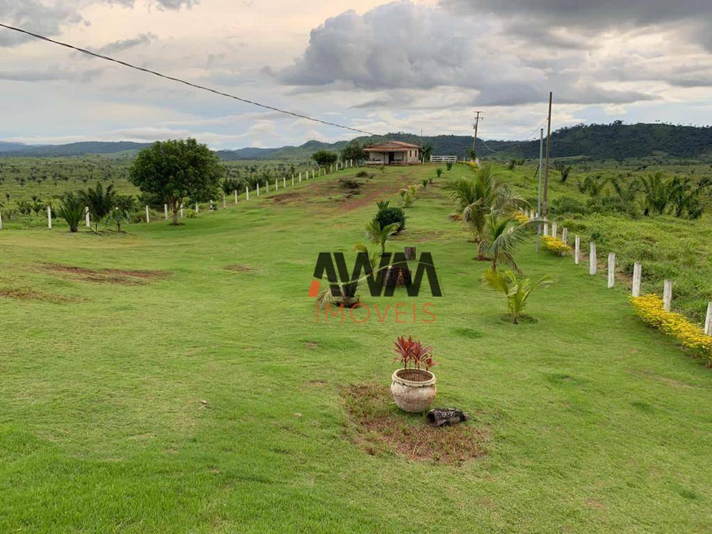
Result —
[[[436,155],[457,155],[465,158],[472,147],[467,135],[436,135],[419,137],[407,133],[391,133],[382,137],[357,137],[364,145],[391,139],[429,144]],[[700,158],[712,157],[712,127],[676,126],[666,124],[625,125],[620,121],[608,125],[576,125],[553,132],[552,157],[592,157],[623,159],[627,157]],[[325,143],[309,141],[298,147],[241,148],[219,150],[226,161],[248,159],[307,159],[317,150],[341,150],[345,141]],[[137,152],[150,143],[137,142],[76,142],[69,145],[21,145],[0,142],[1,157],[69,157],[87,154],[118,154]],[[539,141],[477,140],[480,157],[496,159],[537,158]]]

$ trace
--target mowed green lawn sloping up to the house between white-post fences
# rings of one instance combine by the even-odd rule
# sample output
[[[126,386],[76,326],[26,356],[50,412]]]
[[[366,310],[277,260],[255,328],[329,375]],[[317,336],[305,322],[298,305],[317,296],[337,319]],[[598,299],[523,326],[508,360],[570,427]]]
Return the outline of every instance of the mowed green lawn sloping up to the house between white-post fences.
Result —
[[[0,298],[0,531],[712,529],[712,372],[639,322],[625,288],[533,245],[520,266],[555,283],[531,298],[538,323],[503,322],[444,180],[389,245],[433,253],[444,297],[362,292],[432,302],[436,322],[316,324],[318,253],[352,261],[372,198],[434,168],[376,171],[340,201],[329,184],[352,174],[179,228],[0,232],[0,290],[16,291]],[[342,389],[389,384],[401,334],[434,345],[436,404],[473,416],[486,455],[443,465],[355,443]]]

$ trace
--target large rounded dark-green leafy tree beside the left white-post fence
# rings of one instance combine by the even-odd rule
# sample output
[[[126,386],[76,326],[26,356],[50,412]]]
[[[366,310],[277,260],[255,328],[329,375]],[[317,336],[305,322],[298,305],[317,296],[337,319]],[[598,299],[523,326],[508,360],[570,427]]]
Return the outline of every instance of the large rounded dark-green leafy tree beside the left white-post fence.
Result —
[[[194,139],[155,142],[139,152],[130,181],[142,192],[155,194],[172,211],[172,224],[184,199],[209,201],[215,197],[225,168],[220,158]]]

